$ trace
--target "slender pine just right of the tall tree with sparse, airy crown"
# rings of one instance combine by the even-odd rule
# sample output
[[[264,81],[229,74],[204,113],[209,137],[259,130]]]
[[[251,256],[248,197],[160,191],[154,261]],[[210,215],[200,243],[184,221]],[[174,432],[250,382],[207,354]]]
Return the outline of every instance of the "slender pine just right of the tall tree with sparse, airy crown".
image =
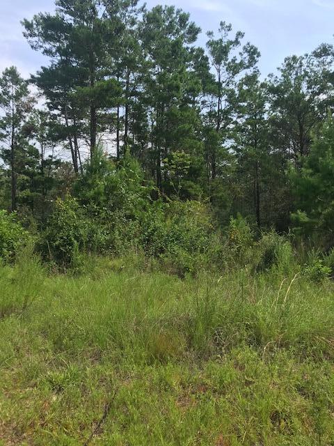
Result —
[[[287,229],[285,215],[289,213],[290,204],[287,162],[273,141],[267,97],[268,85],[260,80],[260,72],[255,70],[241,79],[234,128],[235,182],[239,185],[234,211],[254,215],[259,228],[276,226],[282,230]]]

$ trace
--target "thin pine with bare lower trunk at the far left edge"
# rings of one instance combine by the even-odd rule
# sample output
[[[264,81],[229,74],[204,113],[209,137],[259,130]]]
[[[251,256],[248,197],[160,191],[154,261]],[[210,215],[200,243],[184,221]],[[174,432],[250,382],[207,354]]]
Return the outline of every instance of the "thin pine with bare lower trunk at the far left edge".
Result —
[[[32,106],[27,82],[15,67],[6,68],[0,78],[0,142],[1,157],[10,166],[11,210],[17,209],[17,174],[29,158],[25,125]]]

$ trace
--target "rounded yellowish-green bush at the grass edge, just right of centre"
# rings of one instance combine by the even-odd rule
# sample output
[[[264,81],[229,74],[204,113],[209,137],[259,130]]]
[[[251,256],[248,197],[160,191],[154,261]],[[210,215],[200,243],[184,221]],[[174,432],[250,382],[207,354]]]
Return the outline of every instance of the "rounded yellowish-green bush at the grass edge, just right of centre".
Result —
[[[199,201],[153,203],[141,216],[143,249],[178,275],[214,263],[216,233],[211,211]]]

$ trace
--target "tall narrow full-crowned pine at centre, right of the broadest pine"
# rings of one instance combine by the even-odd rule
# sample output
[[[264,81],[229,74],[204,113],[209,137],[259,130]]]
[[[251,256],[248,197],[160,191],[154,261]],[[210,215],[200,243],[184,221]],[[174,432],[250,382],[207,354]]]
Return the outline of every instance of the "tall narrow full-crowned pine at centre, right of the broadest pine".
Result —
[[[157,187],[161,190],[163,180],[167,180],[162,176],[161,161],[173,150],[168,138],[172,128],[170,119],[173,120],[175,112],[184,112],[183,116],[188,113],[189,97],[184,93],[193,59],[191,45],[196,42],[200,29],[182,10],[156,6],[143,15],[140,31],[148,66],[142,96],[149,128],[148,149]]]

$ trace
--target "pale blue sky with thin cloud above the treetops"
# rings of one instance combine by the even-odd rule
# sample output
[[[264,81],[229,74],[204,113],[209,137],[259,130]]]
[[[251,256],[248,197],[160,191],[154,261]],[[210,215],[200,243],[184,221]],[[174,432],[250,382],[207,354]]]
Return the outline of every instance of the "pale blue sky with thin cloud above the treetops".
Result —
[[[246,40],[262,53],[260,70],[273,72],[285,56],[310,52],[320,43],[333,43],[334,0],[148,0],[175,4],[191,13],[205,31],[218,29],[221,20],[231,22],[234,30],[246,33]],[[15,65],[25,77],[35,72],[45,59],[25,42],[24,17],[54,9],[53,0],[0,0],[0,71]]]

